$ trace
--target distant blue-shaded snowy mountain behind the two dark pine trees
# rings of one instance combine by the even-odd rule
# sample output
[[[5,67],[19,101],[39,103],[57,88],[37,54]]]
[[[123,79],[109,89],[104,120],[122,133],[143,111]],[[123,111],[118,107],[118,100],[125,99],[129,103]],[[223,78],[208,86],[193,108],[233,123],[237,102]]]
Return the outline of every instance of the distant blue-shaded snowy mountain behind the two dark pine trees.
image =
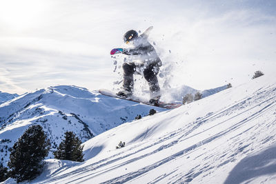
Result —
[[[37,90],[0,105],[0,157],[3,165],[9,159],[9,148],[32,124],[39,124],[48,134],[52,151],[73,131],[87,141],[112,127],[132,121],[137,114],[146,116],[150,109],[164,109],[124,101],[77,86],[60,85]],[[2,152],[3,149],[3,152]]]

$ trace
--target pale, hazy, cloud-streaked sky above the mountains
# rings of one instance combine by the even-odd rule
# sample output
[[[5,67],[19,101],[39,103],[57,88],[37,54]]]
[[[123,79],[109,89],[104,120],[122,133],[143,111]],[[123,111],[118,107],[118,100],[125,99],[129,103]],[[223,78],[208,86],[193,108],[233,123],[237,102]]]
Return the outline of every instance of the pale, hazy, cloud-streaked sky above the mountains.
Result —
[[[110,50],[124,47],[126,31],[151,25],[162,85],[239,85],[256,70],[275,72],[275,9],[260,0],[0,0],[0,91],[111,88],[121,73]]]

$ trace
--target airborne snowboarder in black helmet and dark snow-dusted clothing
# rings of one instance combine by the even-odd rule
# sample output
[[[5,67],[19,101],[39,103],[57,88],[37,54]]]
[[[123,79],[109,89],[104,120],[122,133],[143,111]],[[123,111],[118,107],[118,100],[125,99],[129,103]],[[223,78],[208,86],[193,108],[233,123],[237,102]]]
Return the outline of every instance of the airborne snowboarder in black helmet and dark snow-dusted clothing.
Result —
[[[119,48],[111,51],[111,54],[122,53],[131,56],[130,62],[123,64],[124,83],[122,90],[117,93],[118,96],[128,98],[133,92],[133,74],[144,74],[150,87],[150,103],[158,104],[161,97],[157,74],[162,62],[159,59],[155,48],[148,42],[148,28],[143,34],[138,36],[135,30],[129,30],[124,34],[124,42],[130,45],[130,48]],[[139,63],[134,60],[140,61]]]

